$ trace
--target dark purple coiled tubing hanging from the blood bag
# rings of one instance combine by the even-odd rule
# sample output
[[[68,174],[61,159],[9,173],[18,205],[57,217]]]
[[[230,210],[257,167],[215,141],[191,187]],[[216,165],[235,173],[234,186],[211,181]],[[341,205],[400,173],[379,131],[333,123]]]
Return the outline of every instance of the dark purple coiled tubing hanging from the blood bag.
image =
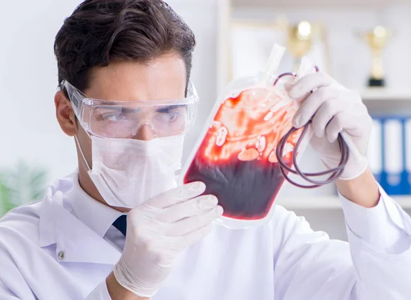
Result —
[[[319,68],[317,66],[315,68],[316,68],[316,72],[318,72]],[[277,77],[273,85],[275,86],[277,82],[279,82],[279,79],[281,79],[284,76],[288,76],[288,75],[292,75],[294,77],[296,76],[294,73],[284,73],[282,75],[279,75],[279,77]],[[341,151],[341,159],[340,159],[338,166],[336,168],[332,168],[327,171],[322,171],[322,172],[317,172],[317,173],[304,173],[303,171],[301,171],[301,169],[299,168],[297,164],[298,149],[299,149],[299,146],[301,145],[301,142],[303,141],[304,136],[306,136],[308,132],[308,126],[310,125],[310,123],[311,123],[311,120],[306,125],[304,125],[303,132],[301,132],[301,135],[299,136],[297,143],[295,144],[295,148],[292,151],[292,163],[294,164],[295,170],[292,170],[292,168],[288,166],[288,164],[290,164],[289,162],[287,164],[287,162],[283,160],[282,153],[284,152],[284,148],[286,146],[286,142],[288,138],[290,138],[290,136],[299,129],[295,127],[291,127],[291,129],[287,132],[287,134],[285,134],[279,140],[277,149],[275,149],[275,154],[277,155],[277,161],[279,164],[279,171],[281,171],[284,179],[290,182],[290,184],[293,184],[294,186],[298,186],[299,188],[318,188],[319,186],[323,186],[325,184],[330,184],[332,182],[335,182],[336,179],[338,179],[340,175],[343,173],[345,165],[347,164],[348,159],[349,159],[349,148],[347,146],[347,143],[343,139],[343,136],[341,136],[341,134],[338,134],[338,145]],[[303,179],[306,179],[306,181],[310,182],[312,185],[308,186],[308,185],[298,184],[297,182],[292,181],[288,177],[287,171],[292,174],[301,176]],[[328,174],[329,174],[329,177],[325,180],[314,180],[310,178],[310,177],[319,177],[319,176],[328,175]]]

